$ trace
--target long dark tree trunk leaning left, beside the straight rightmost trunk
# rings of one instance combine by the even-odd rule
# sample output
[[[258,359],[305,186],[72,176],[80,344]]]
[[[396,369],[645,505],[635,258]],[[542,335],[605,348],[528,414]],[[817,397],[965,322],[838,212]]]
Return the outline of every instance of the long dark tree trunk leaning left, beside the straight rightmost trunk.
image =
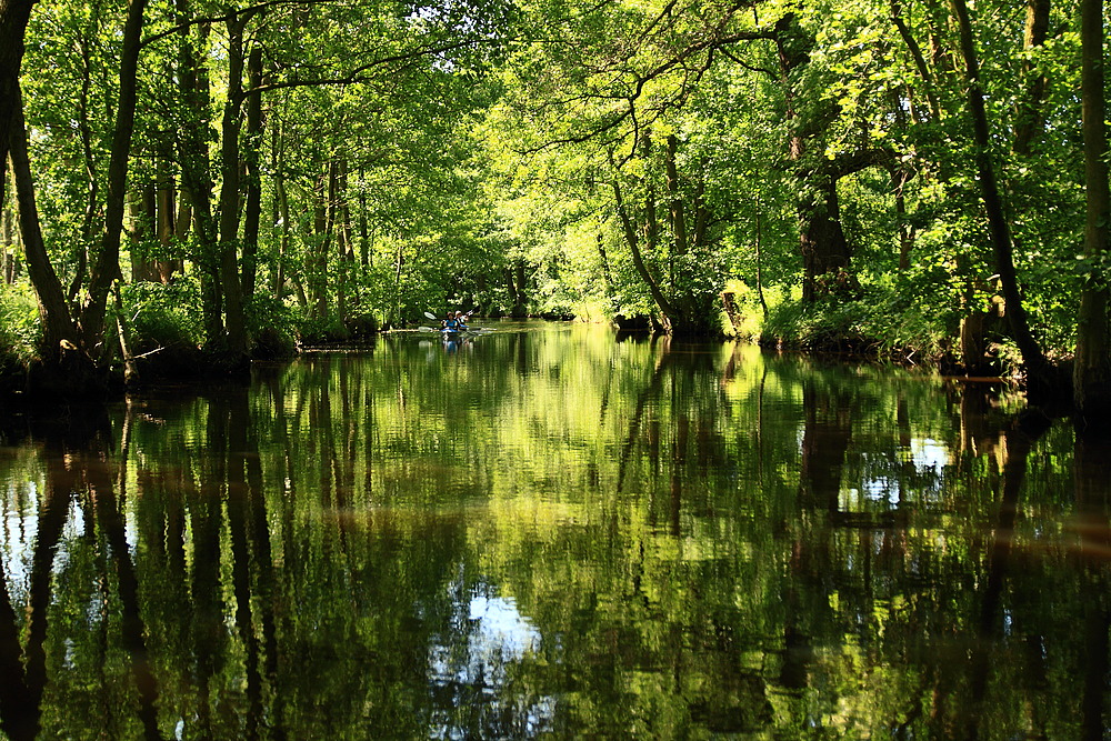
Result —
[[[975,139],[977,173],[980,179],[980,196],[983,199],[984,211],[988,214],[988,231],[991,236],[991,247],[995,256],[995,272],[999,273],[1002,287],[1011,337],[1022,353],[1028,390],[1041,393],[1049,390],[1047,387],[1050,383],[1051,371],[1049,362],[1038,346],[1038,341],[1030,331],[1027,312],[1022,306],[1022,297],[1019,291],[1011,230],[1003,213],[1003,201],[999,193],[999,186],[995,181],[995,167],[991,158],[991,136],[988,127],[988,113],[984,108],[983,89],[980,84],[980,62],[977,58],[975,44],[972,40],[972,23],[969,20],[968,7],[964,4],[964,0],[951,0],[951,3],[960,29],[961,54],[964,57],[964,74],[965,82],[968,83],[969,111],[972,116],[972,130]]]

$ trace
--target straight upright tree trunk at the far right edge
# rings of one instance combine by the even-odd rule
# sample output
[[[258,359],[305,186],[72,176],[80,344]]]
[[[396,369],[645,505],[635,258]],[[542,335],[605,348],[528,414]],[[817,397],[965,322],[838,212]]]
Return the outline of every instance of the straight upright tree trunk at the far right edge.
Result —
[[[1108,183],[1108,132],[1104,96],[1103,0],[1080,3],[1080,89],[1084,133],[1084,187],[1088,211],[1084,258],[1091,272],[1080,294],[1073,401],[1081,427],[1111,431],[1111,328],[1108,326],[1108,277],[1100,267],[1111,233],[1111,187]]]

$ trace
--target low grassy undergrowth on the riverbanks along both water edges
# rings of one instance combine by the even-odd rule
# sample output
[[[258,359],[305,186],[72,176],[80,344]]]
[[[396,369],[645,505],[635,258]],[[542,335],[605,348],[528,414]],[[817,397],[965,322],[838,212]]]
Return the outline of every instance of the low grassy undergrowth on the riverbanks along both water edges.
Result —
[[[723,293],[722,337],[751,341],[767,349],[934,368],[947,375],[991,377],[1012,387],[1022,384],[1019,353],[1000,331],[1000,322],[981,322],[981,337],[970,342],[959,317],[875,291],[849,300],[804,304],[788,291],[765,291],[761,301],[755,291],[743,284],[734,283],[730,289]],[[7,323],[0,336],[0,393],[34,401],[68,395],[57,383],[40,382],[43,375],[34,344],[33,303],[24,301],[21,311],[14,312],[9,304],[4,319]],[[627,329],[612,319],[591,317],[590,321]],[[640,329],[651,331],[650,327],[645,317]],[[296,322],[271,312],[257,318],[250,356],[237,359],[219,348],[202,347],[196,321],[186,321],[166,302],[140,306],[127,330],[127,359],[119,333],[109,337],[112,360],[102,378],[108,395],[144,384],[200,383],[241,375],[248,372],[252,360],[291,359],[306,348],[362,343],[393,331],[373,321],[349,328]],[[970,347],[980,350],[974,362],[967,359]],[[1058,363],[1062,380],[1067,381],[1068,358],[1059,358]],[[82,395],[76,389],[74,392]]]

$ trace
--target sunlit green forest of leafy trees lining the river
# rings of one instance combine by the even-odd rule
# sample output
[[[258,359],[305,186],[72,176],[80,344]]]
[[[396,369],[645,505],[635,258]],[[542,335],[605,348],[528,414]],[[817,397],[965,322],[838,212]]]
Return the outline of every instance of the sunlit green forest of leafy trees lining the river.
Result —
[[[1105,13],[3,0],[0,344],[49,387],[460,309],[1107,409]]]

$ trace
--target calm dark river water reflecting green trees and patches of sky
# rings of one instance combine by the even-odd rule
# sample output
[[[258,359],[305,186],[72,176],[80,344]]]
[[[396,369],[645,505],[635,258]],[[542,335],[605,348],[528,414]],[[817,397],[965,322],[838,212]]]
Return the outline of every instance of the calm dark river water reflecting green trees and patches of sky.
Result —
[[[9,415],[8,737],[1108,737],[1111,451],[924,374],[497,327]]]

